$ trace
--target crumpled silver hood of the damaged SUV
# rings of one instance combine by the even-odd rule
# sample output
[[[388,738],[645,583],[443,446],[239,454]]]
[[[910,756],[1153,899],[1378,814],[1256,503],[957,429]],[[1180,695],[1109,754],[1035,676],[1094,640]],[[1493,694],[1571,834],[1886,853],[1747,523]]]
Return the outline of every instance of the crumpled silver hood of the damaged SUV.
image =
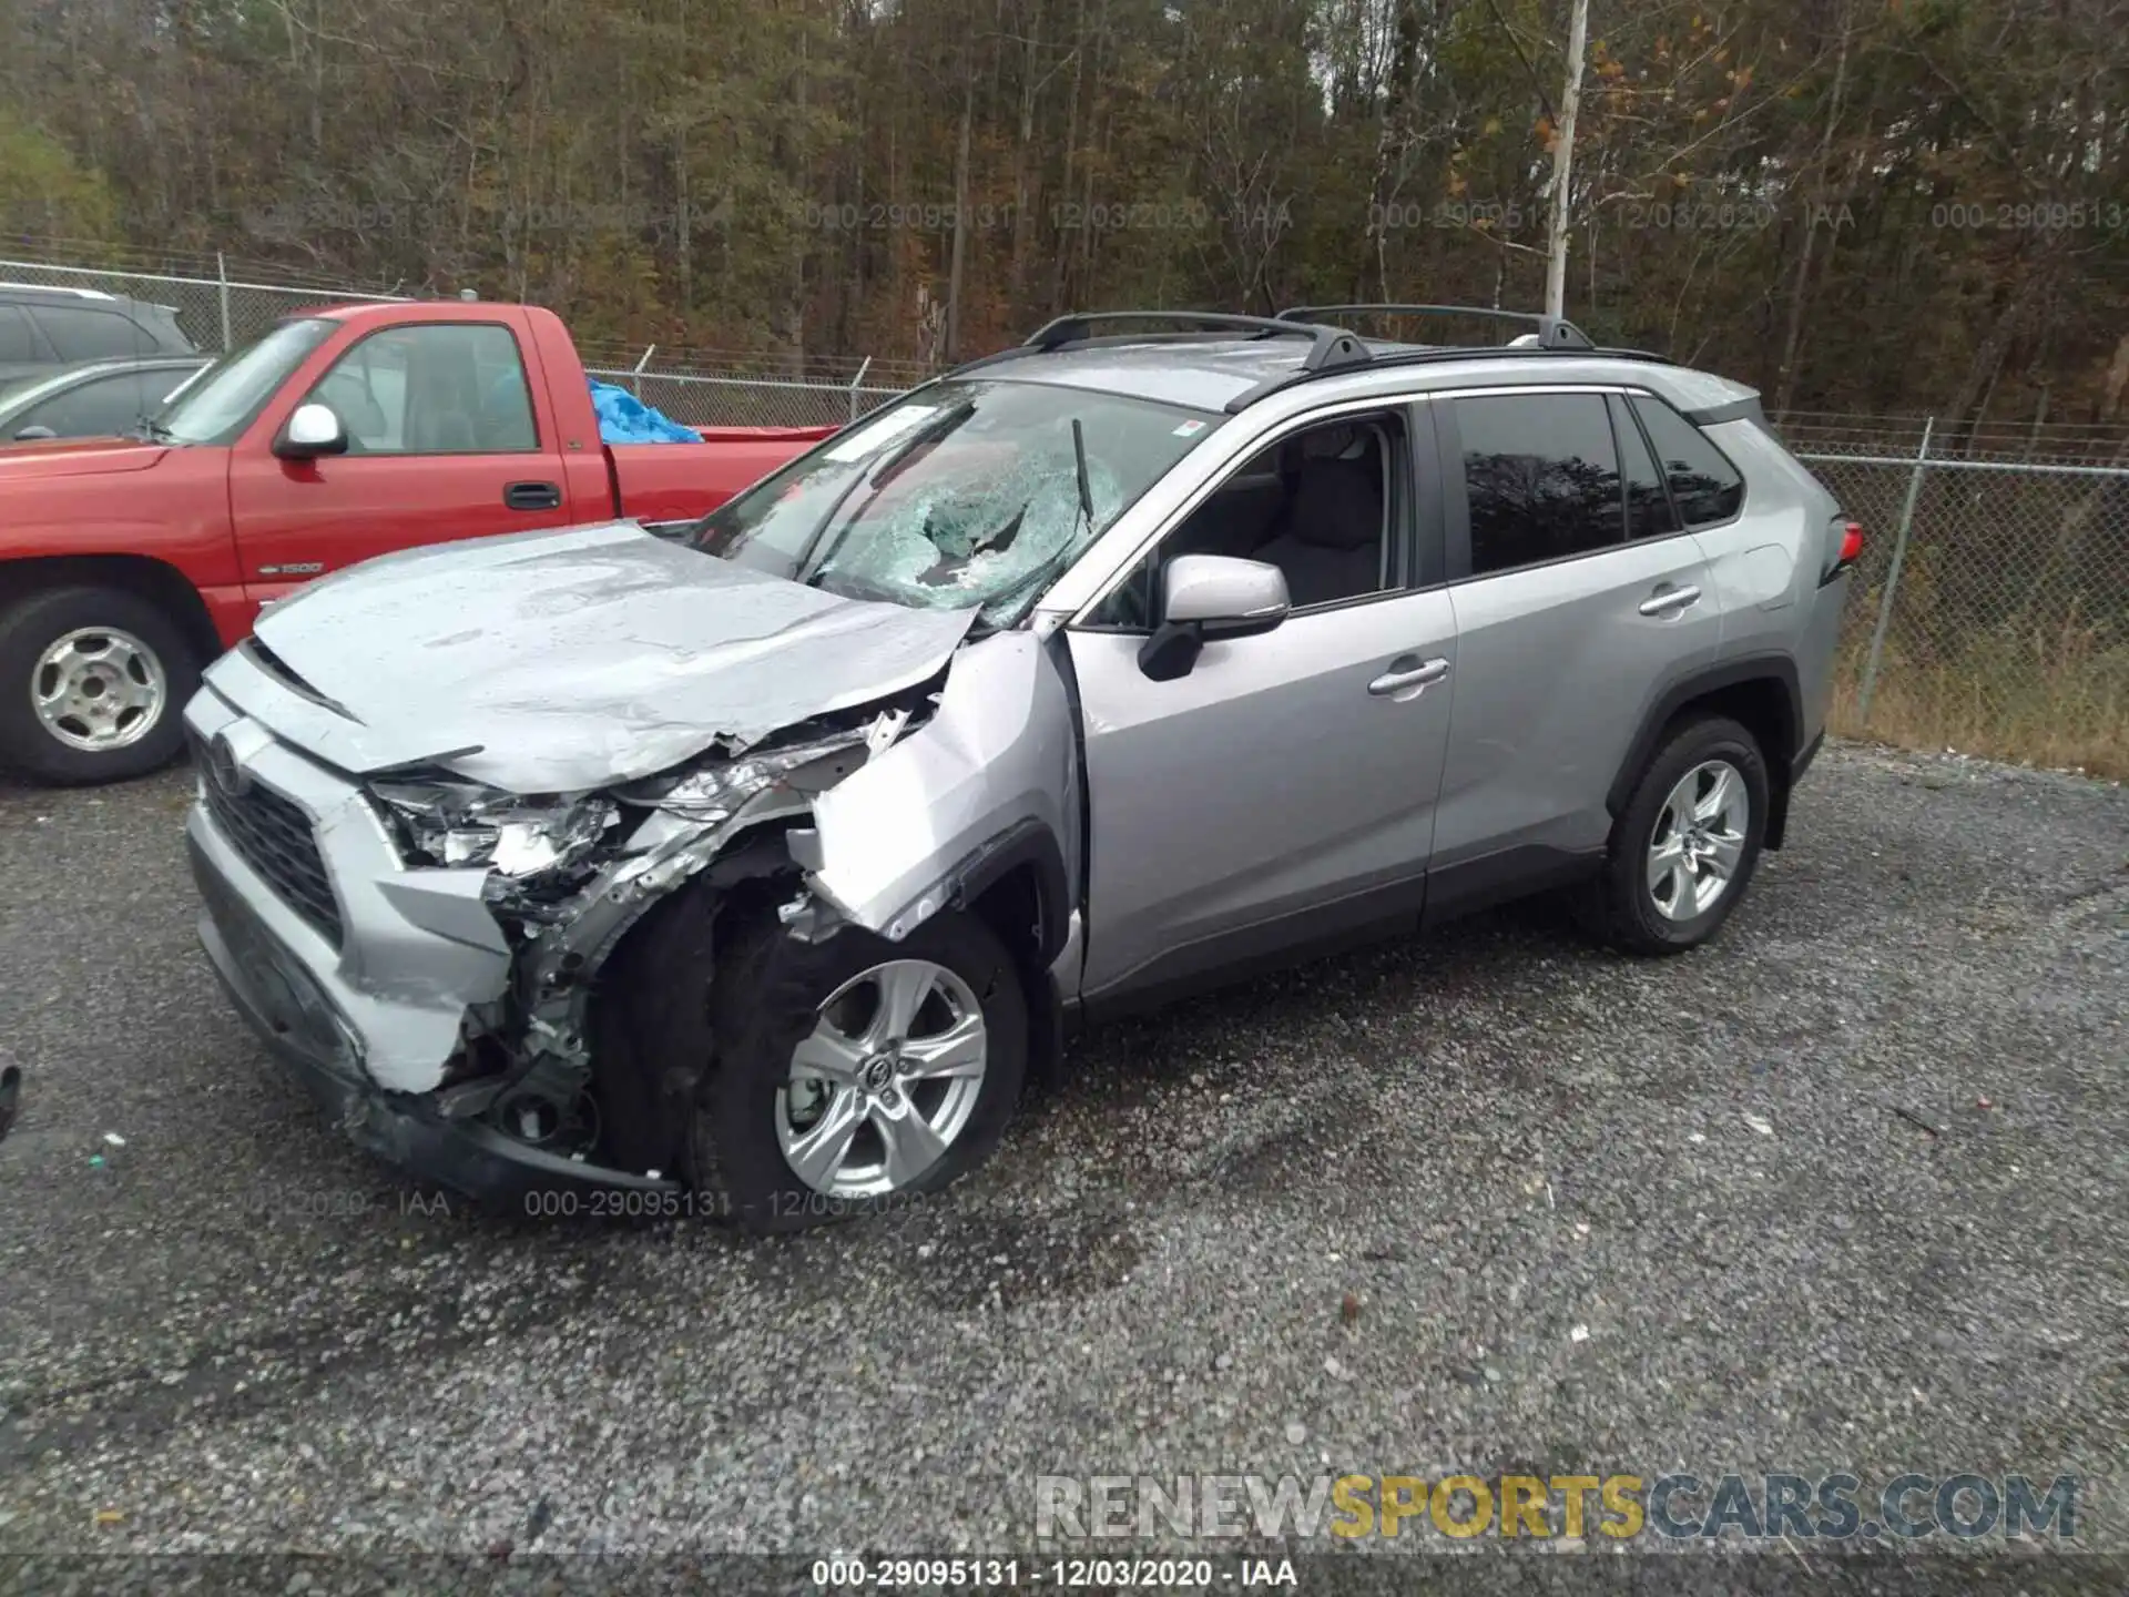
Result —
[[[207,679],[343,769],[434,760],[509,792],[579,792],[911,688],[973,620],[613,522],[409,549],[266,611],[260,641],[345,720],[266,703],[241,658]]]

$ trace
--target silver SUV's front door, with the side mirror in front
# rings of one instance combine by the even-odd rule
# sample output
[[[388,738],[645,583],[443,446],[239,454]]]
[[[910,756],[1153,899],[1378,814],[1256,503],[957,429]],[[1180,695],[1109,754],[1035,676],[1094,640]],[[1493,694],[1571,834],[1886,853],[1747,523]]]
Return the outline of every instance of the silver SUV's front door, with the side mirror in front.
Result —
[[[1456,662],[1433,473],[1414,468],[1431,458],[1426,409],[1348,413],[1275,437],[1071,626],[1088,788],[1082,992],[1092,1003],[1416,924]],[[1365,558],[1337,547],[1343,534],[1328,537],[1341,511],[1309,500],[1311,468],[1328,483],[1333,466],[1352,464],[1311,466],[1311,434],[1354,424],[1377,428],[1386,454],[1373,579]],[[1414,437],[1426,441],[1418,451]],[[1267,462],[1284,481],[1269,511]],[[1143,605],[1111,600],[1154,592],[1175,551],[1269,558],[1301,603],[1277,628],[1207,643],[1188,675],[1154,681],[1139,666]],[[1346,592],[1341,566],[1363,573]]]

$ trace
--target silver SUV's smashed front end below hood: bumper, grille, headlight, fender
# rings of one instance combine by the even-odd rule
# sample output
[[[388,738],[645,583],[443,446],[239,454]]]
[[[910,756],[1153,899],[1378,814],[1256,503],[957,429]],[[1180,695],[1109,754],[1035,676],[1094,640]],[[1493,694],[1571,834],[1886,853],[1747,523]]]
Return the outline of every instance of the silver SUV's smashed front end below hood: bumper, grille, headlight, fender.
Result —
[[[656,775],[617,758],[611,781],[566,794],[507,792],[477,758],[334,769],[302,752],[326,713],[245,652],[187,707],[200,935],[358,1143],[460,1190],[677,1188],[675,1124],[715,1065],[709,992],[735,931],[794,952],[847,926],[898,941],[1039,835],[1028,975],[1062,945],[1075,741],[1060,666],[1026,630],[962,641],[860,703],[705,739]],[[675,1001],[705,1011],[700,1031],[630,1046],[632,1011]]]

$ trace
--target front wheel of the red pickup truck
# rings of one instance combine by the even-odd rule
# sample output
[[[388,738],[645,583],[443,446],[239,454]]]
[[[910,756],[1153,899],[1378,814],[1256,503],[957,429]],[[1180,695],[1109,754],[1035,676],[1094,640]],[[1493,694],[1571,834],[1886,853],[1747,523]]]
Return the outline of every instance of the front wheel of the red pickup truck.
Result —
[[[123,588],[49,588],[0,615],[0,764],[79,786],[145,775],[185,741],[200,660]]]

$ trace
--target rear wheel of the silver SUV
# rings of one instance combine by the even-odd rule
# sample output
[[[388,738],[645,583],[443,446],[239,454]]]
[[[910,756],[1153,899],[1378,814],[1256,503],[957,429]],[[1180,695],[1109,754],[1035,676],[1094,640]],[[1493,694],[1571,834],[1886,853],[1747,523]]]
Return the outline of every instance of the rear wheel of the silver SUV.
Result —
[[[1767,762],[1737,722],[1684,722],[1656,750],[1612,826],[1597,931],[1635,954],[1716,935],[1752,882],[1767,830]]]

